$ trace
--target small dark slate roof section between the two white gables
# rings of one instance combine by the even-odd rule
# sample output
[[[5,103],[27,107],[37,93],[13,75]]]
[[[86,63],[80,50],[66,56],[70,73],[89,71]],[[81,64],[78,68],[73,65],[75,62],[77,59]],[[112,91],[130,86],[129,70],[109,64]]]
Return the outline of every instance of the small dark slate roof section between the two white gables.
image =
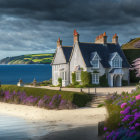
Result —
[[[71,52],[72,52],[72,46],[62,46],[62,50],[63,50],[63,53],[65,55],[65,58],[66,58],[66,62],[69,62],[69,58],[70,58],[70,55],[71,55]]]

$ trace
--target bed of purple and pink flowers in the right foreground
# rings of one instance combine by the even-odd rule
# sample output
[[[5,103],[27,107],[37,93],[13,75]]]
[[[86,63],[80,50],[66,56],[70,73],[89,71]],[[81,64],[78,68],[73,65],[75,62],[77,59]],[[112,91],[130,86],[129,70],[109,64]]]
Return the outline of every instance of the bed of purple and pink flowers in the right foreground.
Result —
[[[106,140],[140,139],[140,89],[108,97],[106,107],[109,114],[104,127]]]

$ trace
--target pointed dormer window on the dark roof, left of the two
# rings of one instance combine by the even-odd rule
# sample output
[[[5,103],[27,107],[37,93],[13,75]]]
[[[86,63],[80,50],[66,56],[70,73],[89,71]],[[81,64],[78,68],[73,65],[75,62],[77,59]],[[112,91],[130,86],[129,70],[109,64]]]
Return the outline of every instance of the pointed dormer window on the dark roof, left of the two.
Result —
[[[99,68],[99,56],[97,53],[93,54],[92,60],[90,61],[93,68],[98,69]]]

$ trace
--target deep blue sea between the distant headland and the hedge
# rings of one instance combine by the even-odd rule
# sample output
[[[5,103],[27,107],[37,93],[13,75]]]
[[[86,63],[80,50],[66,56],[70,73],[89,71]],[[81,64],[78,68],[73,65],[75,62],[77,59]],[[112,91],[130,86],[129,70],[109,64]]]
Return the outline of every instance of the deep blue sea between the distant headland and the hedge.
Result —
[[[19,79],[24,83],[31,83],[34,78],[37,82],[49,80],[52,76],[50,64],[38,65],[0,65],[1,84],[17,84]]]

